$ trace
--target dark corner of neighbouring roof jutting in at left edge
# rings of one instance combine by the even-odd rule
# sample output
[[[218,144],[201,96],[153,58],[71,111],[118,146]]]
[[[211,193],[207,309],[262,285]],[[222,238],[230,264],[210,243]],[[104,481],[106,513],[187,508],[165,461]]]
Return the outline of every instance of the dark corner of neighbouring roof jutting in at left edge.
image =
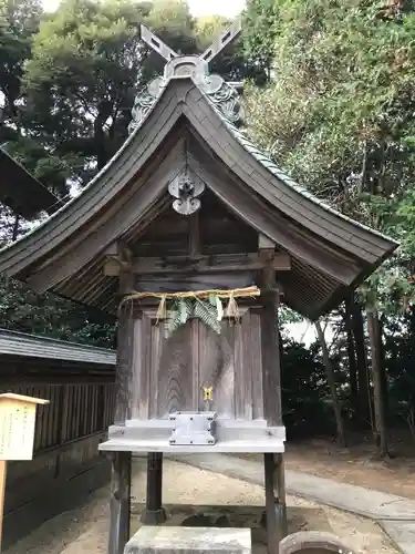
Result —
[[[50,213],[60,201],[0,147],[0,202],[31,219],[41,212]]]

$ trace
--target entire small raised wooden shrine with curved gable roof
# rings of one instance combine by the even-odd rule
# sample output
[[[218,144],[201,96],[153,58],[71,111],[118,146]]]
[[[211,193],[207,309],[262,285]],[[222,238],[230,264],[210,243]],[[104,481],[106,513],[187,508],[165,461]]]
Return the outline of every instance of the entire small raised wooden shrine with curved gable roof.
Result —
[[[238,32],[178,55],[143,28],[166,65],[138,92],[128,140],[80,196],[0,252],[0,271],[35,291],[118,315],[114,425],[100,445],[113,460],[108,554],[129,537],[137,452],[148,453],[146,523],[165,517],[164,453],[262,452],[278,552],[280,301],[317,319],[397,246],[312,197],[243,133],[237,90],[209,73]]]

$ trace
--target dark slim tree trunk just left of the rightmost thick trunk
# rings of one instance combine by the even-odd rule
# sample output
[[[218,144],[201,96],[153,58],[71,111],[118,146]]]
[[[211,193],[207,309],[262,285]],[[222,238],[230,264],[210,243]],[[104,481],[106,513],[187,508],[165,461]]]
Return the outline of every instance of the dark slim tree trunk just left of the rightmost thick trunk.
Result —
[[[369,381],[367,357],[364,345],[364,328],[361,306],[354,301],[351,304],[353,339],[356,351],[357,361],[357,379],[359,379],[359,416],[360,421],[366,427],[372,424],[372,406],[371,406],[371,384]]]

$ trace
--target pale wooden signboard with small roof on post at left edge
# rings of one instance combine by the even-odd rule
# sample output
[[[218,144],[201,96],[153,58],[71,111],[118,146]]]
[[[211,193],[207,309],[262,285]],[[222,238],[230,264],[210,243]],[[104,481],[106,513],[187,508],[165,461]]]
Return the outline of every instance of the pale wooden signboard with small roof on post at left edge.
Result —
[[[49,400],[11,392],[0,394],[0,552],[7,462],[33,458],[37,404],[48,403]]]

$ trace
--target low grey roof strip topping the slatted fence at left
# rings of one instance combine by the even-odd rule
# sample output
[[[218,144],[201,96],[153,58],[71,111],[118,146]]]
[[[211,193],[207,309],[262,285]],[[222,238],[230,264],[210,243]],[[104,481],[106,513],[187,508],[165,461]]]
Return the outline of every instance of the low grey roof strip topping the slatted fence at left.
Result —
[[[105,348],[0,329],[1,356],[115,366],[116,355],[114,350]]]

